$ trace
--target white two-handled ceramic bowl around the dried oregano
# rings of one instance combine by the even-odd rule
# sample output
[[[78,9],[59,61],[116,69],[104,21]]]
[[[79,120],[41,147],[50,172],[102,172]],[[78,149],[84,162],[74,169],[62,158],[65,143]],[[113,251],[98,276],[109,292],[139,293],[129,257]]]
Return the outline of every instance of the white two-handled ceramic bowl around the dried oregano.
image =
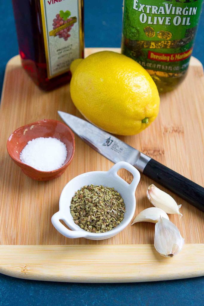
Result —
[[[131,184],[128,184],[117,175],[117,171],[121,168],[132,173],[133,180]],[[130,223],[135,213],[135,190],[139,180],[139,171],[128,162],[117,162],[109,171],[93,171],[78,175],[69,181],[62,190],[59,200],[59,211],[52,216],[52,224],[62,235],[68,238],[84,237],[92,240],[102,240],[115,236]],[[91,184],[115,188],[121,194],[125,203],[123,221],[113,230],[106,233],[90,233],[81,229],[74,223],[70,212],[70,203],[74,193],[83,186]],[[59,220],[63,220],[71,230],[67,229]]]

